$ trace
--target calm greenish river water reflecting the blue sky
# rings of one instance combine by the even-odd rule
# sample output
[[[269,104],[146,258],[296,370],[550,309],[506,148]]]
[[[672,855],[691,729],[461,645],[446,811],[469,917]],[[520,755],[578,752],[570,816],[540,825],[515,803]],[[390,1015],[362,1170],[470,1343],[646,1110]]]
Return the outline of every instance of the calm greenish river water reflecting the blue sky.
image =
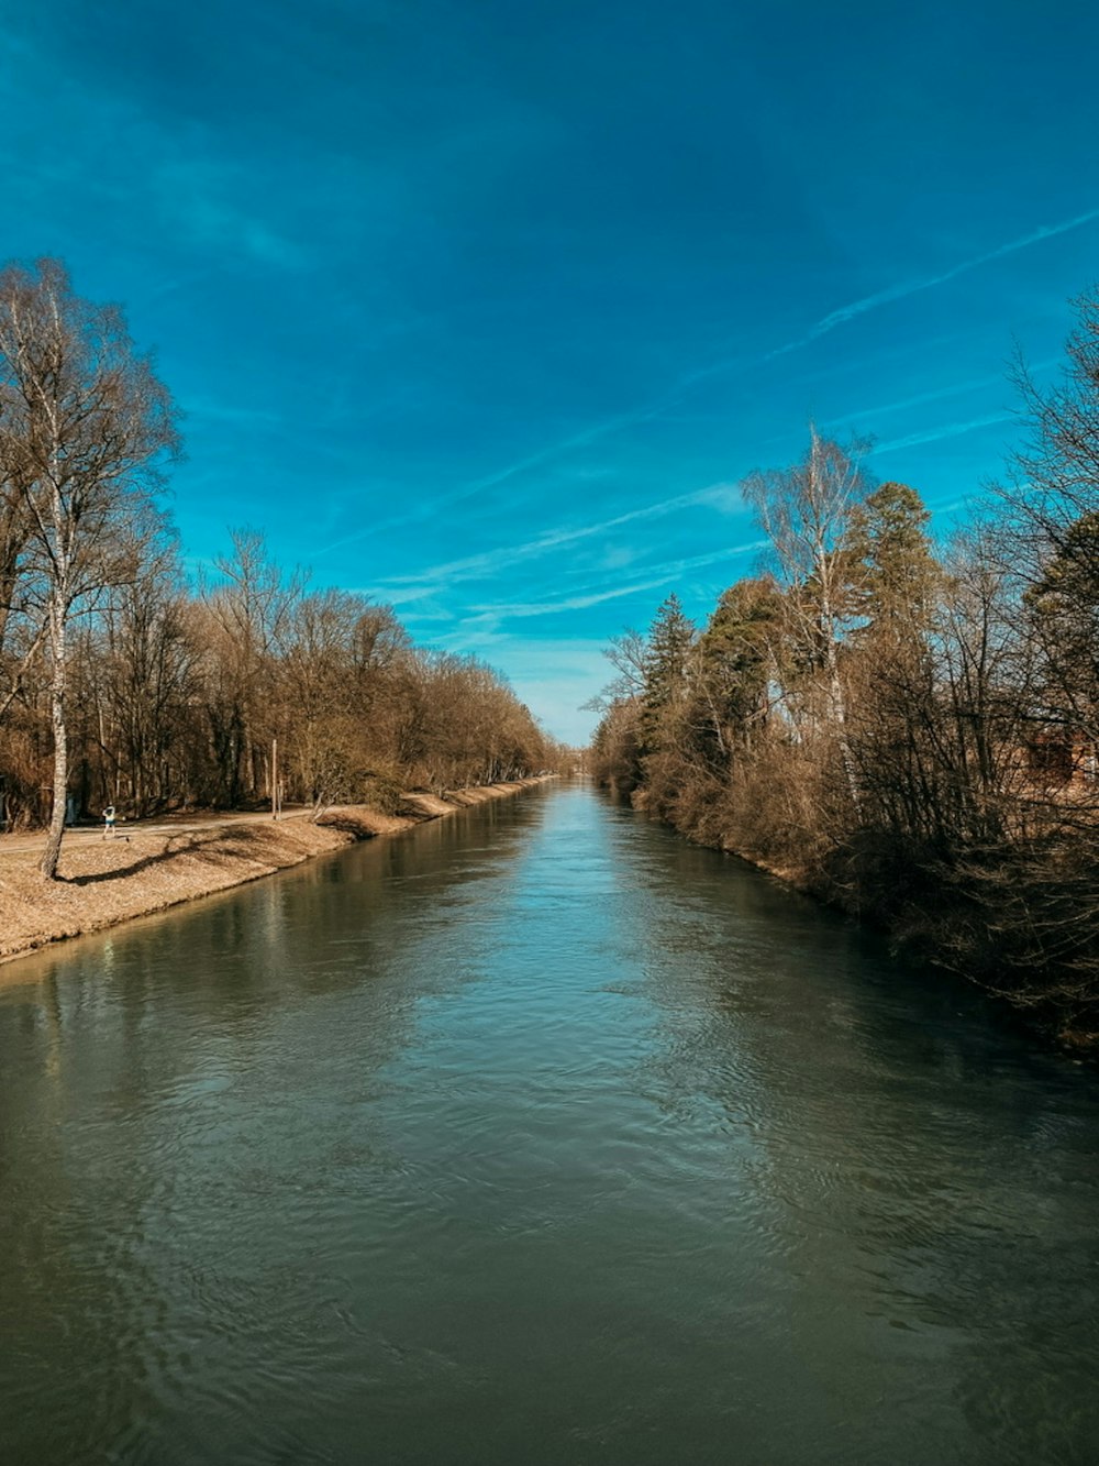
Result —
[[[589,786],[7,979],[4,1463],[1099,1459],[1095,1076]]]

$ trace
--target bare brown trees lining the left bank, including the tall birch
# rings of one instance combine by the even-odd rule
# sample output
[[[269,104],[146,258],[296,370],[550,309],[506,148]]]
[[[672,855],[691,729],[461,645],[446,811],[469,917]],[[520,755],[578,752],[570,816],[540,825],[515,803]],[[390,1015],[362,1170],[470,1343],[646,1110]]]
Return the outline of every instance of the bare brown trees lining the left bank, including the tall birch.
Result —
[[[177,413],[57,261],[0,273],[0,802],[7,828],[529,776],[564,751],[472,657],[311,589],[233,531],[201,583],[161,504]]]

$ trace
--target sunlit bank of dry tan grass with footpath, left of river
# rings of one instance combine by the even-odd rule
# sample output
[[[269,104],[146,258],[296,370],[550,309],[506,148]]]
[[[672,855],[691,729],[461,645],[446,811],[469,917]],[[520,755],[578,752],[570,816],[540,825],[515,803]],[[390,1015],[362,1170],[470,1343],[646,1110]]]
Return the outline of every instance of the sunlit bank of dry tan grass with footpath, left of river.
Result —
[[[544,781],[485,784],[447,792],[444,798],[409,793],[396,814],[349,805],[325,811],[317,822],[297,814],[278,822],[268,818],[246,824],[237,818],[179,831],[122,827],[113,840],[66,841],[56,881],[40,875],[38,852],[0,852],[0,963]]]

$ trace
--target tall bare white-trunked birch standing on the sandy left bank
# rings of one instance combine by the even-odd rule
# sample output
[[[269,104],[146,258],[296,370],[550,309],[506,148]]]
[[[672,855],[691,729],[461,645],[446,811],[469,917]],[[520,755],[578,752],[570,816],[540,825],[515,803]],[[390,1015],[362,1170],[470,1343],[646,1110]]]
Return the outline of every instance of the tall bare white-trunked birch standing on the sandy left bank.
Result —
[[[174,413],[116,306],[72,290],[42,259],[0,274],[0,469],[26,515],[26,575],[50,667],[53,805],[41,869],[53,880],[69,778],[72,616],[135,573],[123,528],[151,501],[177,447]]]

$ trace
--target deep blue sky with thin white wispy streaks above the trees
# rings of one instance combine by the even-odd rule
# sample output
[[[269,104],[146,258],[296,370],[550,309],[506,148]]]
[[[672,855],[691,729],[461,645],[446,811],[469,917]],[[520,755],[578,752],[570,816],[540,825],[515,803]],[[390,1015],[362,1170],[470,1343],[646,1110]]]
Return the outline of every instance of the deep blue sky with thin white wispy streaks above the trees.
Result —
[[[3,7],[0,257],[126,306],[229,525],[551,732],[815,418],[947,522],[1099,280],[1099,6]]]

